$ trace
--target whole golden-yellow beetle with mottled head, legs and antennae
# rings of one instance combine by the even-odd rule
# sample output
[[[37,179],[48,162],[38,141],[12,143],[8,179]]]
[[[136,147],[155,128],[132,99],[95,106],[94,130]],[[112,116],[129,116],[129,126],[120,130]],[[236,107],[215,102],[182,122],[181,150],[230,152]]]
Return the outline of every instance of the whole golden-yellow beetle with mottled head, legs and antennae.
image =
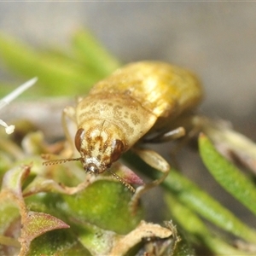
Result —
[[[44,165],[80,160],[85,172],[98,175],[111,172],[128,189],[136,192],[137,201],[143,191],[162,182],[170,166],[160,154],[138,145],[181,137],[183,127],[171,130],[176,119],[189,113],[201,102],[202,88],[193,73],[160,61],[139,61],[119,68],[108,78],[96,83],[89,94],[80,98],[76,108],[65,108],[62,122],[69,140],[66,117],[77,125],[74,138],[79,158],[49,160]],[[156,136],[155,136],[156,134]],[[133,149],[148,165],[163,176],[136,190],[110,171],[113,162]]]

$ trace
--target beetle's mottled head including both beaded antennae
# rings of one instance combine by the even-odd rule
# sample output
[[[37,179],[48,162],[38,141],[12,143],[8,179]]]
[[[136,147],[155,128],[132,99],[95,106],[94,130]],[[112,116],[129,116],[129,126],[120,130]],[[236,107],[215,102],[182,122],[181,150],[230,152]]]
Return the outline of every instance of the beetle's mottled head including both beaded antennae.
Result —
[[[105,122],[103,122],[103,124],[104,123]],[[119,180],[120,183],[123,183],[126,188],[135,192],[131,184],[126,183],[122,177],[119,177],[110,170],[111,164],[119,160],[119,157],[126,149],[125,143],[118,137],[119,133],[113,132],[114,130],[110,129],[111,126],[112,125],[108,125],[107,129],[104,125],[101,125],[102,128],[94,127],[93,129],[90,128],[88,131],[85,131],[84,128],[79,128],[75,136],[75,146],[81,154],[81,157],[48,160],[45,161],[43,165],[49,166],[65,163],[67,161],[80,160],[86,172],[95,175],[105,171],[110,172],[110,174]]]

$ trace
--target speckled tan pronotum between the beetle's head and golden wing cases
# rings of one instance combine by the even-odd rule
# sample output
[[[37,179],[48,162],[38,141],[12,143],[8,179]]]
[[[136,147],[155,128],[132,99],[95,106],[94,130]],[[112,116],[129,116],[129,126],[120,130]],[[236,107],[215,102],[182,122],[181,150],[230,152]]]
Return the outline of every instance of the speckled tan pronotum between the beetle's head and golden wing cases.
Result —
[[[113,125],[108,129],[113,137],[117,132],[121,139],[125,139],[125,146],[131,148],[152,127],[157,117],[130,94],[128,90],[125,93],[103,92],[85,97],[76,108],[78,126],[105,120],[108,125]]]

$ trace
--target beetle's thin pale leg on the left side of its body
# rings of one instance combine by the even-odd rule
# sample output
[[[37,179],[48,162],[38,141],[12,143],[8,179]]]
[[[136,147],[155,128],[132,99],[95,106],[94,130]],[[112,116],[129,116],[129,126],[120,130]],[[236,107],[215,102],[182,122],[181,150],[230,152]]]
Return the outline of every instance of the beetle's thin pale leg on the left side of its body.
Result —
[[[65,137],[67,138],[67,143],[69,145],[69,148],[71,148],[72,152],[75,152],[74,144],[73,144],[73,139],[71,132],[68,128],[68,122],[67,118],[72,120],[73,124],[76,123],[75,120],[75,108],[69,106],[63,109],[62,115],[61,115],[61,123],[62,127],[64,129]]]

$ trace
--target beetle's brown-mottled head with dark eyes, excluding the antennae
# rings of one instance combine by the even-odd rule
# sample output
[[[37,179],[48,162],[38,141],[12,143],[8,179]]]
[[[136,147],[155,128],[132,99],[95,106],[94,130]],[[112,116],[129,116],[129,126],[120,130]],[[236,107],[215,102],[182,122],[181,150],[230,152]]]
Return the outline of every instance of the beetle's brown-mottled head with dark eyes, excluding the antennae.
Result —
[[[119,127],[101,119],[85,121],[77,131],[75,145],[84,170],[94,174],[108,170],[125,151]]]

